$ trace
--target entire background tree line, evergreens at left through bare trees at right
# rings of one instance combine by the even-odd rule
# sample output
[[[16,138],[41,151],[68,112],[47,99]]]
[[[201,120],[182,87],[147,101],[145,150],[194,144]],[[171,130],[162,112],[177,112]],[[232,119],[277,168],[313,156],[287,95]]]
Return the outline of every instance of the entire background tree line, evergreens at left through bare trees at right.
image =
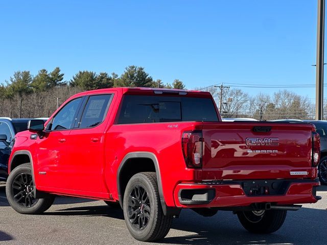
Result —
[[[57,106],[68,97],[81,91],[111,87],[157,87],[185,89],[182,81],[175,79],[171,84],[154,80],[140,66],[128,66],[123,74],[97,74],[94,71],[78,71],[69,81],[59,67],[52,71],[41,69],[33,76],[30,71],[16,71],[9,81],[0,85],[0,116],[49,117]],[[307,97],[289,90],[273,94],[259,93],[250,96],[241,89],[224,89],[220,96],[217,86],[194,88],[212,93],[216,104],[222,102],[222,117],[250,117],[262,120],[313,119],[315,106]],[[58,105],[57,105],[58,102]],[[325,113],[327,115],[327,103]]]

